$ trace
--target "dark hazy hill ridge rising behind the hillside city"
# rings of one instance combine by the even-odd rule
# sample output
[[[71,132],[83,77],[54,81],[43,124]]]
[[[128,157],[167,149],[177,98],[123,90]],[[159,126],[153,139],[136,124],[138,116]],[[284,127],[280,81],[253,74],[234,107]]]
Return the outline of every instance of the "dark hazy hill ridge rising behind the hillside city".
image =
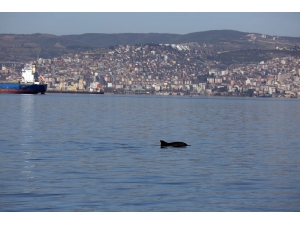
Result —
[[[208,50],[275,49],[300,45],[300,37],[273,37],[234,30],[212,30],[190,34],[121,33],[121,34],[0,34],[0,61],[26,61],[39,55],[57,57],[93,48],[136,44],[181,44],[195,42]]]

